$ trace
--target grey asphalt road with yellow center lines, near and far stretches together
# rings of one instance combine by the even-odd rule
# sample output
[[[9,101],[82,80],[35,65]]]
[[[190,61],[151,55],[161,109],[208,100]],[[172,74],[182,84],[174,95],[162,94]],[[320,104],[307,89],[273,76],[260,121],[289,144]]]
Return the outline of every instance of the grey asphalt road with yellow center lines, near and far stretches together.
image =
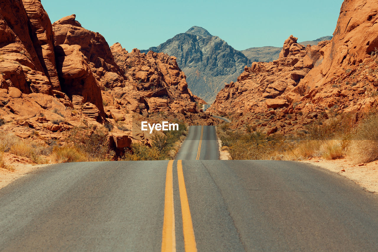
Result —
[[[51,165],[2,188],[0,250],[376,251],[375,194],[299,162],[195,160],[199,128],[214,141],[190,129],[191,160]]]

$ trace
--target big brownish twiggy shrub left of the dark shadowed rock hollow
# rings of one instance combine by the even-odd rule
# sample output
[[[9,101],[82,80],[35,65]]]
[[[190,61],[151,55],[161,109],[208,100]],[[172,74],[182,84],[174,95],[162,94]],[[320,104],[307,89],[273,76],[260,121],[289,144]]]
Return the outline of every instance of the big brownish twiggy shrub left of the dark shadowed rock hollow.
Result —
[[[66,143],[68,147],[80,151],[88,161],[109,159],[108,131],[105,128],[93,129],[84,122],[82,126],[76,126],[70,130]]]

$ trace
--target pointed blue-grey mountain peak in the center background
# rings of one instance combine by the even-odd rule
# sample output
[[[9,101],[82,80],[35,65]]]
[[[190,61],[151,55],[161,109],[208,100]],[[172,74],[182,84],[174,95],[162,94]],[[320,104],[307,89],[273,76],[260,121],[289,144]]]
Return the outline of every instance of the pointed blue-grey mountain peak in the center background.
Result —
[[[250,64],[243,53],[199,26],[141,53],[148,51],[175,56],[189,89],[208,103],[214,101],[225,82],[236,81],[244,66]]]

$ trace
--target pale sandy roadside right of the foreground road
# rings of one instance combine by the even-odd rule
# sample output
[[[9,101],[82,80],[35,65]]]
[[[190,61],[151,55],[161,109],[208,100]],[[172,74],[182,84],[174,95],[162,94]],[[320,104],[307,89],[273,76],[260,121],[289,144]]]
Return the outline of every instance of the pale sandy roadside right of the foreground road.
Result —
[[[333,171],[354,181],[364,190],[378,194],[378,162],[353,164],[349,159],[324,160],[322,158],[313,158],[301,161],[317,165],[327,170]]]

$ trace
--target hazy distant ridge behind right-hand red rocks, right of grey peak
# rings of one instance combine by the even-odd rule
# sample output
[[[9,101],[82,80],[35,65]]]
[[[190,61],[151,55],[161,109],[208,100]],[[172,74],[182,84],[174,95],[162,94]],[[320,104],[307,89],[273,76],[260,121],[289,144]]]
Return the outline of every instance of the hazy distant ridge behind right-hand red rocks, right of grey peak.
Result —
[[[298,42],[298,44],[307,45],[317,45],[319,42],[324,40],[331,40],[332,36],[325,36],[319,39]],[[282,47],[251,47],[241,51],[249,60],[252,62],[270,62],[278,59]]]

